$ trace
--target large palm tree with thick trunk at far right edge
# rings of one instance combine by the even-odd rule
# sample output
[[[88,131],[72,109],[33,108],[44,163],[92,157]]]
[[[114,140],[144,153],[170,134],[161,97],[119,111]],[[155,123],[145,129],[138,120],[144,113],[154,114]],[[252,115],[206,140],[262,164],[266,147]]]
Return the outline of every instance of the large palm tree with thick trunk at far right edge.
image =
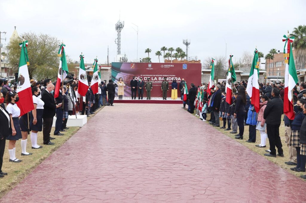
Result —
[[[295,64],[297,69],[303,69],[306,65],[306,25],[295,27],[290,36],[294,37],[292,43],[295,52]]]

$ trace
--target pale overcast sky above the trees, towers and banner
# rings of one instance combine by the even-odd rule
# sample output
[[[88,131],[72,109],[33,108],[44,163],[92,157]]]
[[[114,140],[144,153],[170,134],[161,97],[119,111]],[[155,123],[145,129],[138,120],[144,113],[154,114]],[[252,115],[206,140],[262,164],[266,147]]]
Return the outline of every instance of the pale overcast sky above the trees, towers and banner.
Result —
[[[14,26],[18,34],[35,32],[50,34],[63,40],[66,53],[85,62],[114,61],[117,45],[115,23],[125,21],[121,32],[121,54],[136,60],[138,25],[138,59],[146,48],[152,52],[152,62],[158,62],[155,52],[162,46],[181,47],[190,39],[189,56],[202,61],[207,57],[233,54],[239,61],[244,51],[255,46],[266,54],[271,48],[282,52],[282,36],[294,27],[306,24],[305,0],[258,1],[30,1],[0,0],[0,31],[9,39]],[[2,38],[3,35],[2,35]],[[8,43],[9,40],[3,44]],[[29,46],[31,46],[29,44]],[[202,62],[203,63],[203,62]]]

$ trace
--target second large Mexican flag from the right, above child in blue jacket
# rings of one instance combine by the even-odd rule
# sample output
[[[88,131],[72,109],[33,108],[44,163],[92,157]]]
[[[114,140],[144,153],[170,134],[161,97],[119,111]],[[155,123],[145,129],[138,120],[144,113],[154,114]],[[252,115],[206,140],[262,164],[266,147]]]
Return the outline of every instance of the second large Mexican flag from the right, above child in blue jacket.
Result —
[[[248,85],[247,85],[247,93],[251,98],[251,104],[254,105],[255,111],[259,112],[259,62],[258,62],[258,51],[255,49],[254,51],[254,58],[252,62],[252,67],[250,70],[250,76],[248,78]]]

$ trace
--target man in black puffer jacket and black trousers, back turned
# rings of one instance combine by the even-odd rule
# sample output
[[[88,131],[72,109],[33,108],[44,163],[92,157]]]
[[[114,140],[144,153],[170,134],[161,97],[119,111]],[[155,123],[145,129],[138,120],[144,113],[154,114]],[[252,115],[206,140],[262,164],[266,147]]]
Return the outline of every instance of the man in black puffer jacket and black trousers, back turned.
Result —
[[[267,134],[270,143],[270,153],[266,156],[276,157],[275,146],[277,147],[278,155],[284,156],[282,149],[281,138],[279,137],[279,126],[283,114],[284,103],[279,96],[279,89],[274,87],[271,93],[272,99],[267,103],[266,109],[263,112],[263,118],[267,123]]]

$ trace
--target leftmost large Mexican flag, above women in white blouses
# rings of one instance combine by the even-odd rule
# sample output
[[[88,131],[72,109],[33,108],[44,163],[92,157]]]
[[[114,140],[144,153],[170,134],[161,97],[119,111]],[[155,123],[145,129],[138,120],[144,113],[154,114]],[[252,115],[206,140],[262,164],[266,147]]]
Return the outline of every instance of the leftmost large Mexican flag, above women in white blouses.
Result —
[[[17,80],[19,101],[16,102],[16,104],[20,109],[20,116],[22,116],[29,111],[32,111],[34,109],[34,104],[28,71],[28,65],[30,65],[27,51],[28,41],[23,41],[19,45],[21,46]]]

